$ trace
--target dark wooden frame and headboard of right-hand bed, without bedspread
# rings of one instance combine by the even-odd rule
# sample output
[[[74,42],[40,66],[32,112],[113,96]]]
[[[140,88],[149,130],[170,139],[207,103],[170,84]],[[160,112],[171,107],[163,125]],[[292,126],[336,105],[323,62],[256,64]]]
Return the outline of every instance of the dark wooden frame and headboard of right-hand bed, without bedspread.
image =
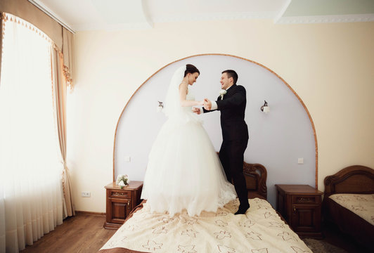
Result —
[[[330,199],[337,193],[374,193],[374,169],[354,165],[346,167],[332,176],[325,177],[323,217],[337,224],[343,233],[351,235],[357,242],[368,248],[373,246],[374,226],[348,209]]]

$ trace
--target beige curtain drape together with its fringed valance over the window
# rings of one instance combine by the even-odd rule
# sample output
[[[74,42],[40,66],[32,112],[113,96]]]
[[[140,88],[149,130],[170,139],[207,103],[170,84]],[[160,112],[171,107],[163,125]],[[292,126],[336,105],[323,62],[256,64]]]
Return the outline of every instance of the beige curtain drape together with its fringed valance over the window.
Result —
[[[30,4],[27,0],[0,0],[0,14],[12,13],[45,32],[53,41],[51,56],[52,79],[53,79],[53,99],[56,109],[56,126],[58,139],[60,141],[61,160],[63,161],[63,190],[65,197],[65,216],[75,215],[72,204],[72,187],[70,183],[68,169],[66,167],[66,86],[73,89],[73,39],[74,34],[62,27],[58,22]],[[0,26],[1,27],[1,26]],[[0,30],[0,48],[3,32]],[[1,51],[0,51],[1,63]],[[1,65],[0,65],[1,73]]]

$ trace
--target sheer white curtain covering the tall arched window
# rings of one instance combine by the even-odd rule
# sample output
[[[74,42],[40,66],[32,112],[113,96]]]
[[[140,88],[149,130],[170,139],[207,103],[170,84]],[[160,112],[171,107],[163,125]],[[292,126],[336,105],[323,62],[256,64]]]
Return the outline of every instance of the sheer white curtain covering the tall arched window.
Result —
[[[11,20],[12,17],[12,20]],[[0,252],[18,252],[63,222],[51,41],[3,20],[0,82]]]

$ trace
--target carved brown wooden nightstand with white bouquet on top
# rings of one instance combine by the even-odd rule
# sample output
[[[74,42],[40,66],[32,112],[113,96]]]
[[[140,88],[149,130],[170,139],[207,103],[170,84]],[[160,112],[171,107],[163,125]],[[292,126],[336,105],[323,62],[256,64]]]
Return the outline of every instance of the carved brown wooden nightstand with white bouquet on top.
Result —
[[[130,181],[128,186],[117,186],[115,182],[105,186],[106,222],[104,228],[118,229],[129,213],[140,203],[143,182]]]

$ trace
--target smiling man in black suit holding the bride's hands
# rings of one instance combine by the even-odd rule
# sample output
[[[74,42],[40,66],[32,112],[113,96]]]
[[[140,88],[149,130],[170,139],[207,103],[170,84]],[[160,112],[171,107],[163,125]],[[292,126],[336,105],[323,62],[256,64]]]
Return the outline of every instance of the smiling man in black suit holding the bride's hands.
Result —
[[[245,214],[250,208],[243,175],[244,152],[248,143],[248,127],[244,120],[247,98],[245,88],[236,85],[237,80],[238,74],[234,70],[222,72],[221,96],[217,101],[205,98],[203,111],[221,111],[223,142],[219,150],[219,160],[224,167],[227,180],[233,181],[238,194],[240,205],[236,214]],[[193,108],[193,112],[200,114],[201,111],[200,108]]]

